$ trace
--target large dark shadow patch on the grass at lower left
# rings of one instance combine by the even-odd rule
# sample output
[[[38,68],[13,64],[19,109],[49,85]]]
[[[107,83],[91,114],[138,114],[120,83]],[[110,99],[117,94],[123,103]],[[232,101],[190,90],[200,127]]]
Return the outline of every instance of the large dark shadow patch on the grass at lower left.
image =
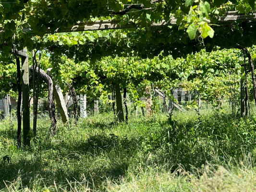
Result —
[[[106,178],[119,180],[126,173],[136,146],[136,141],[127,137],[100,134],[79,144],[60,143],[53,149],[45,146],[42,151],[27,149],[25,154],[28,156],[24,154],[12,164],[0,167],[0,189],[5,187],[3,180],[13,182],[20,178],[23,186],[40,180],[44,185],[52,186],[55,181],[63,186],[67,180],[84,177],[92,189],[101,186]]]

